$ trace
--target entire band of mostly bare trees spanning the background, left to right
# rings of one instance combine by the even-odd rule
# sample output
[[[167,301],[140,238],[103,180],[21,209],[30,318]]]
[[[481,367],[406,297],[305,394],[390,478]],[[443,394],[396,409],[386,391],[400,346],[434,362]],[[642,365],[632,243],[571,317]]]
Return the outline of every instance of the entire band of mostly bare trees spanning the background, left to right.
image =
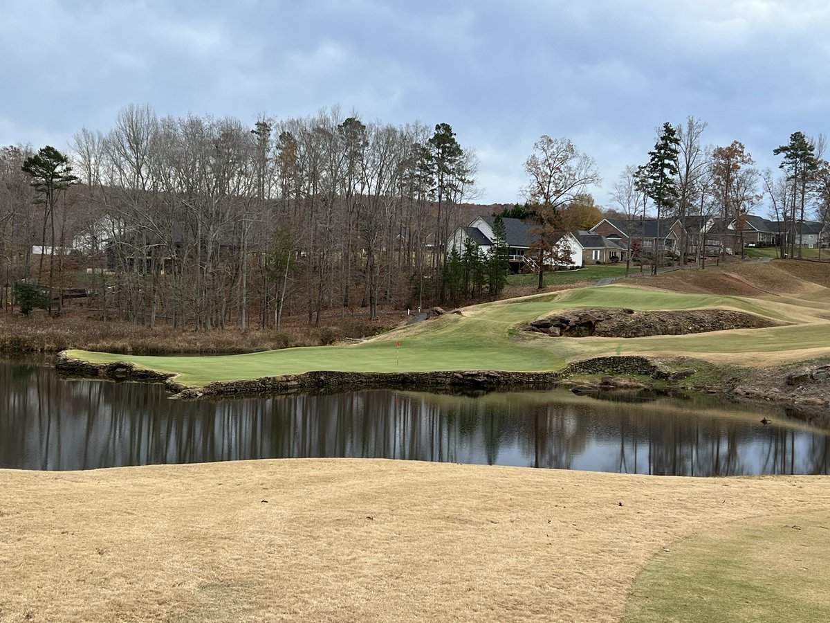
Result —
[[[824,221],[822,136],[793,133],[774,149],[776,174],[739,141],[704,145],[704,130],[693,117],[658,127],[604,211],[587,194],[601,182],[593,158],[543,135],[524,204],[502,214],[535,220],[540,258],[554,233],[603,215]],[[77,296],[104,320],[244,330],[496,297],[503,241],[489,256],[447,248],[475,198],[475,152],[446,123],[365,123],[334,107],[251,127],[130,105],[110,130],[77,132],[67,155],[0,150],[0,303],[55,315]]]

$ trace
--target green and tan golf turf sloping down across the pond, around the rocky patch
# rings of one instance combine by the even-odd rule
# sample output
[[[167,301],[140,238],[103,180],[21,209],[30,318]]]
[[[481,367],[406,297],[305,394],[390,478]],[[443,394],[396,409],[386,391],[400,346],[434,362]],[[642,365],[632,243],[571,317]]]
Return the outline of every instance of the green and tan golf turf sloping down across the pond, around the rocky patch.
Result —
[[[761,269],[766,271],[764,275],[793,282],[792,275],[772,264],[748,268],[754,272]],[[655,283],[666,282],[669,278],[700,277],[696,272],[686,273],[688,276],[662,276]],[[719,274],[713,269],[708,276]],[[650,282],[640,279],[637,283]],[[676,356],[688,353],[707,361],[740,365],[773,365],[830,354],[830,321],[823,316],[821,304],[823,300],[830,300],[827,287],[811,282],[793,290],[787,297],[768,296],[764,293],[768,292],[766,290],[759,292],[764,296],[738,297],[614,284],[466,307],[461,310],[461,315],[447,314],[354,345],[211,357],[125,356],[86,351],[69,351],[67,354],[93,363],[129,361],[178,375],[178,382],[189,386],[301,374],[310,370],[548,371],[559,370],[570,361],[614,354]],[[583,307],[629,307],[642,311],[727,308],[764,316],[780,326],[632,339],[549,338],[521,331],[535,318]]]

